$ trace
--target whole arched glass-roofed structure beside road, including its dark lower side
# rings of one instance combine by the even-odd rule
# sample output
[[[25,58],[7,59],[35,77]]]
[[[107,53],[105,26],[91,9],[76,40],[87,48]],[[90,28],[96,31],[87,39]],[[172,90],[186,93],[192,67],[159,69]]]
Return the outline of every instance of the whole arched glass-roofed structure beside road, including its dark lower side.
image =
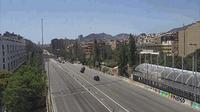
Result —
[[[200,102],[200,73],[143,63],[135,68],[134,80]]]

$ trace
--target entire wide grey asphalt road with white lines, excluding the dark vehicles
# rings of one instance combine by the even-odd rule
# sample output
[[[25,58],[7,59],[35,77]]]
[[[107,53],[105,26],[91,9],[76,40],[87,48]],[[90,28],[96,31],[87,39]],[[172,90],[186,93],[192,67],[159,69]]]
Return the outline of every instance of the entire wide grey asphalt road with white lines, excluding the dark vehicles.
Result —
[[[50,59],[49,71],[54,112],[196,112],[196,110],[81,65]],[[100,81],[93,80],[94,75]]]

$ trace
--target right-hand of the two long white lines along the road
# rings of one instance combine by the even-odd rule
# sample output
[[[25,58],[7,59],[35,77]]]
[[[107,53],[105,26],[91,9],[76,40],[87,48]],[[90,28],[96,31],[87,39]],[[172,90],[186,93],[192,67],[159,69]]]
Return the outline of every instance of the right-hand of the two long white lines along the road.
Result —
[[[61,69],[63,69],[63,67],[61,67],[60,65],[59,65],[59,67],[61,68]],[[65,71],[64,69],[63,69],[63,71]],[[65,71],[66,72],[66,71]],[[73,71],[74,72],[74,71]],[[75,73],[75,72],[74,72]],[[87,81],[85,78],[83,78],[82,76],[80,76],[80,75],[77,75],[77,76],[79,76],[79,77],[81,77],[84,81],[86,81],[88,84],[90,84],[92,87],[94,87],[95,89],[97,89],[99,92],[101,92],[103,95],[105,95],[107,98],[109,98],[111,101],[113,101],[115,104],[117,104],[119,107],[121,107],[122,109],[124,109],[126,112],[129,112],[129,110],[127,110],[125,107],[123,107],[121,104],[119,104],[119,103],[117,103],[115,100],[113,100],[111,97],[109,97],[107,94],[105,94],[103,91],[101,91],[100,89],[98,89],[97,87],[95,87],[93,84],[91,84],[89,81]]]

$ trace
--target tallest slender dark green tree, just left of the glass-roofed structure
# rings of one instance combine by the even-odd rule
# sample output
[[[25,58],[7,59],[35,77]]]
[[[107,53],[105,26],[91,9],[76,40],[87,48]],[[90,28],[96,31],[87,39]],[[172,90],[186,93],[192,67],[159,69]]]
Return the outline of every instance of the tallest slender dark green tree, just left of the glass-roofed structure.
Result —
[[[132,34],[130,34],[129,37],[129,43],[128,43],[128,62],[129,66],[133,67],[136,65],[136,45],[135,45],[135,39]]]

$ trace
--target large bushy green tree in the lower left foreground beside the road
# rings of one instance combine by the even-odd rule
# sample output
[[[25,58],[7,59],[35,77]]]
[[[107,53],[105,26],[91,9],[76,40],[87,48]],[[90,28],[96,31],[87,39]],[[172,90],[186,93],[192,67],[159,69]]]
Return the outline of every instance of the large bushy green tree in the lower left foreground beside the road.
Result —
[[[8,80],[3,104],[7,112],[31,112],[45,106],[46,76],[36,67],[23,66]]]

